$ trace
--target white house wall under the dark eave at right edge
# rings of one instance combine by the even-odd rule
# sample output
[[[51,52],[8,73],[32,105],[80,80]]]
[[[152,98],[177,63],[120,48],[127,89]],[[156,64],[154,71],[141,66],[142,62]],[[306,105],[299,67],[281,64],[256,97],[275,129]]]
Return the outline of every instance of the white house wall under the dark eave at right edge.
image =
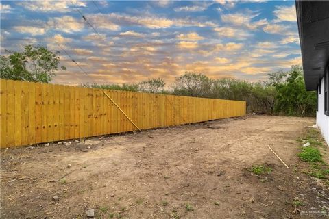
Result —
[[[319,92],[318,92],[319,93]],[[321,79],[321,94],[318,96],[317,125],[329,145],[329,116],[324,114],[324,77]]]

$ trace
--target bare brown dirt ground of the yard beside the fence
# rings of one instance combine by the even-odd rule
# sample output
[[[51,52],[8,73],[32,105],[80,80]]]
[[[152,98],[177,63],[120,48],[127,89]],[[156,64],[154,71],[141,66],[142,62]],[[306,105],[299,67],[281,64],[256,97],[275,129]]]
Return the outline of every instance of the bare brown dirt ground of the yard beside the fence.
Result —
[[[314,123],[247,116],[4,149],[1,218],[328,218],[328,187],[297,158]]]

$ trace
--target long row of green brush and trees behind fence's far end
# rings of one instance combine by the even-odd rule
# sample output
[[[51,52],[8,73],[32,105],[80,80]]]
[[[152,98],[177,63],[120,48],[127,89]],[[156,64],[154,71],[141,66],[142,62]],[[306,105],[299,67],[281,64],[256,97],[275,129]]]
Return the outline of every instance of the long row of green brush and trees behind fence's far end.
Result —
[[[129,90],[247,102],[247,112],[256,114],[282,114],[287,116],[315,116],[316,92],[306,92],[302,68],[269,73],[267,81],[250,82],[239,79],[210,79],[201,73],[186,72],[165,90],[162,79],[149,79],[141,83],[123,85],[83,85],[110,90]]]

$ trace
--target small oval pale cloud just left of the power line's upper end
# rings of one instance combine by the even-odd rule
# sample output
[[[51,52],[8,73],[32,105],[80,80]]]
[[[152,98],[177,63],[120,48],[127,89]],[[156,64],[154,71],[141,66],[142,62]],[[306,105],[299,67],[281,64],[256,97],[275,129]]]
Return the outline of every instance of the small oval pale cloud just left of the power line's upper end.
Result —
[[[83,21],[77,21],[72,16],[62,16],[57,18],[50,18],[47,25],[58,31],[65,33],[79,32],[84,29]]]

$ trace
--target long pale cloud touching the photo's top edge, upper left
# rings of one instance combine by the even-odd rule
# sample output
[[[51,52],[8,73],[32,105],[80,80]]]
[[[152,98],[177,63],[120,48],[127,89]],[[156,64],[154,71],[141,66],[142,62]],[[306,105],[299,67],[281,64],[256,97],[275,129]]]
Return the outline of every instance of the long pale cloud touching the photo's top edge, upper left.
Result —
[[[86,7],[85,1],[71,0],[75,6]],[[57,0],[46,0],[46,1],[21,1],[16,3],[27,10],[38,11],[38,12],[69,12],[71,5],[70,1],[57,1]]]

